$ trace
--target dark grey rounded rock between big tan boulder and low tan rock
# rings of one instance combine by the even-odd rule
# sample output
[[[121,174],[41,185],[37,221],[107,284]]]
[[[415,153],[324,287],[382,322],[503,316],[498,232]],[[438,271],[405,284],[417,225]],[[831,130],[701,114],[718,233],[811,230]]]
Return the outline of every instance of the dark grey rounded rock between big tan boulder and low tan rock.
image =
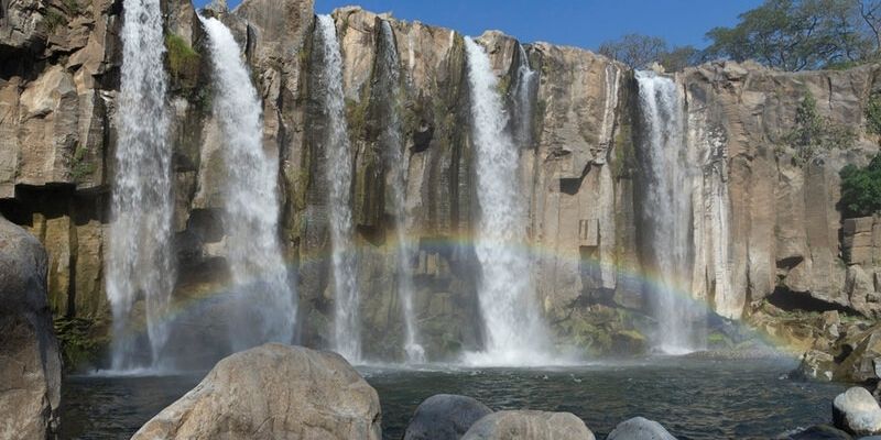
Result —
[[[438,394],[416,408],[404,432],[404,440],[458,440],[468,428],[492,409],[477,399]]]

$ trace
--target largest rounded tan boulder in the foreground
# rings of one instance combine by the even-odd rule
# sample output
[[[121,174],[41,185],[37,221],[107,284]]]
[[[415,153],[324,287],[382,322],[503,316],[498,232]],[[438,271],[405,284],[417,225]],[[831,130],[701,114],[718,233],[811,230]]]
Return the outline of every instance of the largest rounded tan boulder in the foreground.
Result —
[[[132,437],[380,440],[377,392],[342,356],[270,343],[217,363]]]

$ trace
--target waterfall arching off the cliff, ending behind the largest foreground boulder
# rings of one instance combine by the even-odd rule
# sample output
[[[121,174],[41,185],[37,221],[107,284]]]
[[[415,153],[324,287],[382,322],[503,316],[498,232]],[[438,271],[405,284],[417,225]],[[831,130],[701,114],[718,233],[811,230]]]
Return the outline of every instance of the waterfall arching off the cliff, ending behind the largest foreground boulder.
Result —
[[[263,150],[261,102],[232,33],[216,19],[199,19],[211,50],[214,117],[228,170],[224,226],[238,296],[228,322],[230,344],[239,351],[269,341],[291,343],[296,299],[279,240],[279,160]]]

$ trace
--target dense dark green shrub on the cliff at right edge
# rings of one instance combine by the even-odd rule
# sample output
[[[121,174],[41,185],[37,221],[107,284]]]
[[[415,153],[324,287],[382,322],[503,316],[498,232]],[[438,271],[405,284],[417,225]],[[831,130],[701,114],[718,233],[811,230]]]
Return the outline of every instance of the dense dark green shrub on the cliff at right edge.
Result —
[[[848,165],[841,169],[841,208],[848,217],[881,212],[881,154],[864,168]]]

